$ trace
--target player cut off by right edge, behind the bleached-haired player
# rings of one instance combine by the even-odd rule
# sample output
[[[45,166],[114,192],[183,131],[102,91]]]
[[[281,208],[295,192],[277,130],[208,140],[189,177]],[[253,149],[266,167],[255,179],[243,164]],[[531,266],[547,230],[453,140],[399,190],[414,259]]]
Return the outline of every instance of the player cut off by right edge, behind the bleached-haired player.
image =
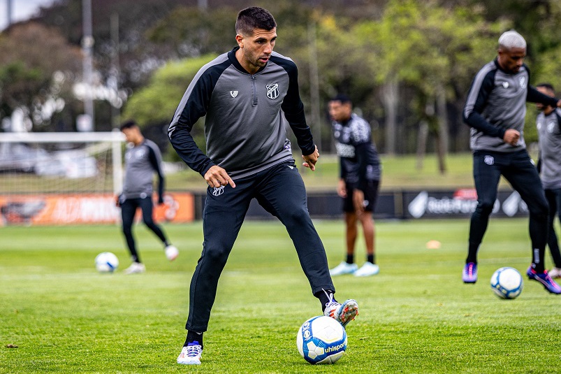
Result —
[[[536,86],[537,90],[548,96],[555,96],[555,89],[548,83]],[[541,184],[546,193],[549,206],[549,235],[547,244],[555,267],[549,271],[551,278],[561,278],[561,254],[557,235],[555,235],[555,215],[561,220],[561,109],[537,103],[541,113],[536,118],[539,135],[538,171]]]

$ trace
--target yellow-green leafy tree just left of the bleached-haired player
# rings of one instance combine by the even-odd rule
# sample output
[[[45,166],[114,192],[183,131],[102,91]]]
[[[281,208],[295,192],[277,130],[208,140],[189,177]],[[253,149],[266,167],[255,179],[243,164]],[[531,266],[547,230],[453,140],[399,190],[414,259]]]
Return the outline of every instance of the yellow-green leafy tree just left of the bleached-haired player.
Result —
[[[379,22],[356,27],[377,62],[372,72],[376,82],[414,91],[410,109],[435,138],[442,173],[449,148],[447,103],[463,101],[474,73],[494,57],[502,27],[473,10],[412,0],[389,1]],[[386,101],[386,109],[392,105],[396,103]]]

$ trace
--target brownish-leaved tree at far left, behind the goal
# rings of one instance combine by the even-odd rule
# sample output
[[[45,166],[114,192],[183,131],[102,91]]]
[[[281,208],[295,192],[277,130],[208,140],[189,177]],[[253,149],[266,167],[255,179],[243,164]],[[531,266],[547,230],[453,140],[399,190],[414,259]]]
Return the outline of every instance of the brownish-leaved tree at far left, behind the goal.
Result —
[[[0,34],[0,50],[0,116],[20,109],[34,130],[52,129],[55,113],[76,102],[71,85],[82,66],[80,50],[36,22]]]

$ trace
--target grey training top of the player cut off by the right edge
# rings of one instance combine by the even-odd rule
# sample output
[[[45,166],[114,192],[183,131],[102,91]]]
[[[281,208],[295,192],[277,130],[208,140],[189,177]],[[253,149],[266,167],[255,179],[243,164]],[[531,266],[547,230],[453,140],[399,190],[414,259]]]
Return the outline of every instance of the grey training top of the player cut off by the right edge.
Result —
[[[561,109],[545,115],[539,113],[536,127],[539,135],[541,184],[544,189],[561,188]]]

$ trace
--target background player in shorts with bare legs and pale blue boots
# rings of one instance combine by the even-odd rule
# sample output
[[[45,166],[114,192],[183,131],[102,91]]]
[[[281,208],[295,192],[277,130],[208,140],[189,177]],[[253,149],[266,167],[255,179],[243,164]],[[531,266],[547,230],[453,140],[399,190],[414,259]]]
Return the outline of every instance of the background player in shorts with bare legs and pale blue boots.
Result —
[[[380,160],[370,136],[370,125],[353,113],[353,104],[348,96],[339,94],[328,103],[335,148],[339,156],[340,179],[337,194],[343,198],[347,257],[331,275],[354,274],[367,277],[379,273],[374,259],[374,219],[380,181]],[[363,227],[366,244],[366,262],[358,268],[354,263],[354,247],[357,223]]]

